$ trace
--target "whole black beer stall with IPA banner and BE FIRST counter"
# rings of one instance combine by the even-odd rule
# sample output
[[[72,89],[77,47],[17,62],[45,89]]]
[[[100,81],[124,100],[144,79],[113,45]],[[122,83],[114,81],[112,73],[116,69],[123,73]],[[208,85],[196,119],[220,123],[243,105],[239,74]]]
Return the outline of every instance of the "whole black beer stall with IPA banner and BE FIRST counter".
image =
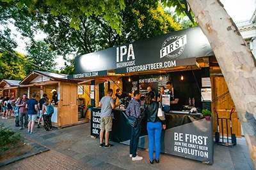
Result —
[[[199,27],[193,27],[78,56],[75,59],[76,74],[68,78],[92,80],[92,106],[97,106],[101,99],[95,96],[96,91],[100,91],[100,86],[95,89],[95,81],[102,77],[110,79],[110,88],[113,83],[118,86],[117,82],[120,81],[113,81],[111,77],[119,76],[122,79],[120,89],[129,93],[140,90],[143,95],[147,86],[158,94],[161,85],[166,87],[166,81],[172,81],[174,89],[180,92],[180,103],[186,106],[189,97],[194,97],[199,113],[173,112],[171,106],[166,117],[167,128],[161,136],[161,152],[212,164],[212,120],[207,121],[200,114],[204,108],[211,110],[209,60],[212,57],[207,38]],[[112,115],[111,139],[129,145],[131,126],[127,125],[125,110],[115,109]],[[139,143],[141,148],[148,148],[146,128],[146,122],[143,122]],[[91,135],[98,137],[99,131],[100,108],[92,108]]]

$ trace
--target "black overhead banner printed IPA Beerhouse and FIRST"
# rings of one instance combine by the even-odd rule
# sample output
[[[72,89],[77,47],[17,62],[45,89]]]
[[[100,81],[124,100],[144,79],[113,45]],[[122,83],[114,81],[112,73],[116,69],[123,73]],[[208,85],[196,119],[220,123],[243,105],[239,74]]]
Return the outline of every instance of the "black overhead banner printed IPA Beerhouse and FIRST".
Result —
[[[191,60],[180,59],[209,55],[213,55],[209,41],[200,27],[193,27],[78,56],[75,73],[109,69],[116,69],[116,73],[132,73],[188,66],[192,65]]]

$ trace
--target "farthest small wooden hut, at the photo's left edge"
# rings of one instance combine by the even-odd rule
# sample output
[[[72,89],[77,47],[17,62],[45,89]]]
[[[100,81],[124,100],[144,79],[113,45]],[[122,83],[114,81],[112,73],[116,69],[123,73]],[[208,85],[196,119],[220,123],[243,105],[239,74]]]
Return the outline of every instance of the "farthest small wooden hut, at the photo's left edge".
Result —
[[[19,83],[19,80],[2,80],[0,82],[0,96],[19,97],[19,94],[22,93]]]

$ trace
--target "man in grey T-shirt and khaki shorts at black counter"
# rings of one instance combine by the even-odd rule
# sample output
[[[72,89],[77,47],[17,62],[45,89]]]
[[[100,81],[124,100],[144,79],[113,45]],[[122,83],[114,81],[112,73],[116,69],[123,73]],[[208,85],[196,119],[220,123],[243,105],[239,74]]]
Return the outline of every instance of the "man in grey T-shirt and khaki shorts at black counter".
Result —
[[[113,90],[109,89],[107,92],[107,96],[102,97],[99,102],[99,107],[101,107],[101,115],[100,115],[100,148],[104,145],[103,143],[103,135],[105,132],[105,145],[104,148],[109,148],[113,146],[108,143],[109,132],[112,131],[112,109],[115,108],[115,101],[113,97]]]

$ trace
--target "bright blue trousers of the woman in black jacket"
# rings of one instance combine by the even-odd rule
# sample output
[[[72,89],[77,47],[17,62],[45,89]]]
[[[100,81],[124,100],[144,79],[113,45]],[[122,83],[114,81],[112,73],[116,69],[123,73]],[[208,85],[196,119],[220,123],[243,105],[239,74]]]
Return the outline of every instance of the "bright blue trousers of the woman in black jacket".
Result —
[[[159,160],[160,155],[160,139],[162,132],[161,122],[148,122],[147,123],[148,139],[149,139],[149,160],[154,160],[154,141],[156,148],[156,160]]]

